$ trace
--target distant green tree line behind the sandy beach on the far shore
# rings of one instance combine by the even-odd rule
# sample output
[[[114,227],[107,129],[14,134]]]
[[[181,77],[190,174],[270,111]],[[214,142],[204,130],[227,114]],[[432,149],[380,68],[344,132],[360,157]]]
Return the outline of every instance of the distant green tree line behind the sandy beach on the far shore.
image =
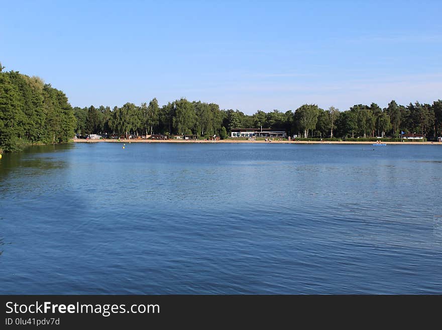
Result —
[[[401,132],[422,134],[428,139],[441,136],[442,100],[432,104],[415,102],[407,106],[392,100],[387,107],[376,103],[357,104],[340,112],[304,104],[294,112],[270,113],[258,110],[245,115],[233,109],[219,109],[214,103],[190,102],[185,98],[159,106],[126,103],[122,107],[74,107],[78,135],[195,134],[226,138],[234,128],[283,129],[289,135],[309,138],[399,137]]]

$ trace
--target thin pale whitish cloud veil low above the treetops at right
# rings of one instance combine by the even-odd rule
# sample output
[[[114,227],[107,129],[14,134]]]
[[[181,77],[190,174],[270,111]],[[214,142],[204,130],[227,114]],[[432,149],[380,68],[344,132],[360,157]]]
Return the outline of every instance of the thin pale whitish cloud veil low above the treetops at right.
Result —
[[[229,86],[206,86],[204,89],[183,89],[185,95],[200,95],[217,100],[222,108],[239,108],[252,114],[257,109],[281,111],[296,109],[304,103],[316,103],[322,108],[334,105],[342,111],[354,104],[376,102],[384,107],[395,99],[400,104],[416,100],[432,102],[441,97],[442,74],[404,75],[388,79],[360,79],[302,83],[238,83]],[[226,96],[228,95],[228,96]]]

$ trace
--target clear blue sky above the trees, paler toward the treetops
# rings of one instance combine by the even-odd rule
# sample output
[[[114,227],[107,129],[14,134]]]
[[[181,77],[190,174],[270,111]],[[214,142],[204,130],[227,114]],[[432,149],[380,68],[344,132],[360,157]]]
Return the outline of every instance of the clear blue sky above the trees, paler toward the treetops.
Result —
[[[73,106],[442,98],[440,1],[4,1],[0,61]]]

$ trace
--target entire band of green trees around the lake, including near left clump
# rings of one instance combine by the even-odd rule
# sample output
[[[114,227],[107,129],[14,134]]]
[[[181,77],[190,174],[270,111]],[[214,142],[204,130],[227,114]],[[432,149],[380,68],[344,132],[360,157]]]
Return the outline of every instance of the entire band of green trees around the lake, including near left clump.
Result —
[[[246,115],[217,104],[177,99],[160,106],[126,103],[121,107],[74,107],[66,95],[38,77],[6,72],[0,63],[0,150],[18,151],[29,144],[62,143],[74,135],[194,134],[222,139],[234,128],[282,129],[300,138],[397,138],[401,132],[442,136],[442,100],[408,105],[392,100],[387,107],[357,104],[346,111],[304,104],[295,111]]]

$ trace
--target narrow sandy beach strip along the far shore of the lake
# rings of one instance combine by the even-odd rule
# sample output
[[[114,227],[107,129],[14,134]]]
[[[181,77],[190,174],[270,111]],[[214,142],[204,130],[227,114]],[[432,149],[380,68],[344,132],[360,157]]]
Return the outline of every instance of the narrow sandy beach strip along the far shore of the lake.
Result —
[[[248,141],[248,140],[218,140],[218,141],[207,141],[207,140],[114,140],[114,139],[101,139],[101,140],[85,140],[85,139],[74,139],[71,140],[75,143],[267,143],[267,144],[368,144],[373,145],[375,142],[370,141]],[[442,146],[442,142],[382,142],[387,145],[439,145]]]

